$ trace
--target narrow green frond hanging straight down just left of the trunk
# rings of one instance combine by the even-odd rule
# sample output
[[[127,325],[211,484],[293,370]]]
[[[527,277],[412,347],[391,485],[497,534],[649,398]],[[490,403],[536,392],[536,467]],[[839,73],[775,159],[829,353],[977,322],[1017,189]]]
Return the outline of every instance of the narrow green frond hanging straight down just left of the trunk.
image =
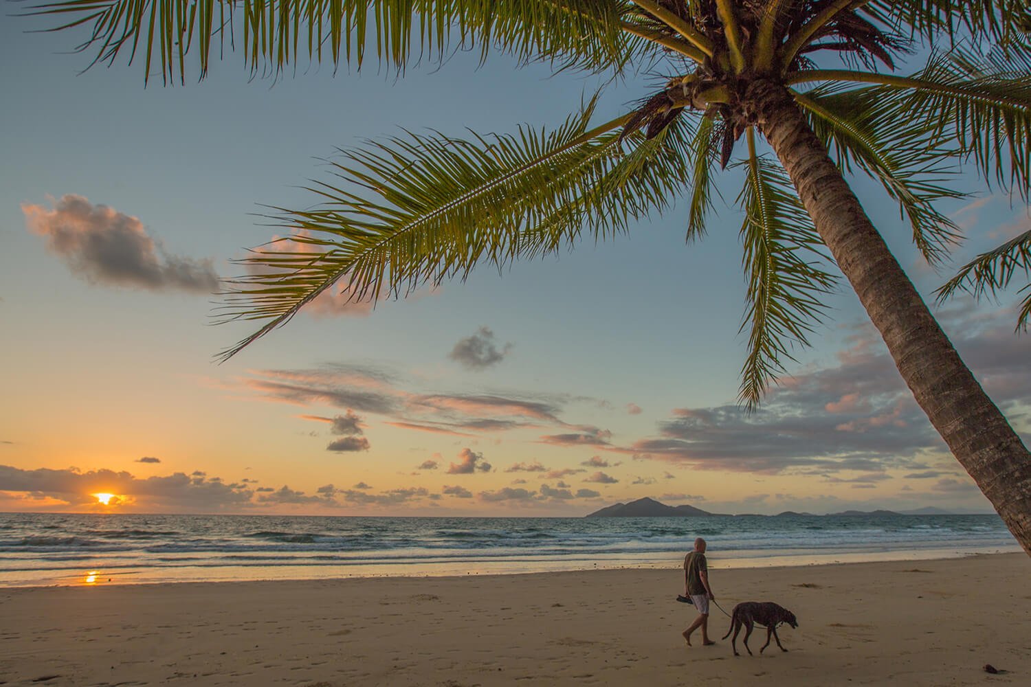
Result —
[[[820,267],[830,259],[787,172],[756,153],[751,128],[747,140],[749,158],[737,163],[745,169],[738,196],[745,211],[741,243],[747,283],[741,331],[750,328],[738,398],[755,410],[785,362],[795,359],[794,346],[809,345],[807,335],[826,310],[821,296],[836,278]]]

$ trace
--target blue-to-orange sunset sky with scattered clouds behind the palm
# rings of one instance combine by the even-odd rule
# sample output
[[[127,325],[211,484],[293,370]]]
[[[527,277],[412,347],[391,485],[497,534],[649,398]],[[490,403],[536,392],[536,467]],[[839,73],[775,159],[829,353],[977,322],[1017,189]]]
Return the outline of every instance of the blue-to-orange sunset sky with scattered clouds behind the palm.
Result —
[[[737,405],[744,279],[721,181],[708,236],[686,204],[502,274],[375,308],[328,296],[251,333],[212,325],[230,261],[306,208],[338,148],[402,129],[558,126],[599,81],[458,54],[403,78],[367,65],[144,88],[142,66],[80,73],[69,34],[0,22],[0,511],[579,516],[652,496],[710,512],[990,512],[912,401],[846,285],[755,414]],[[195,76],[196,71],[191,72]],[[654,74],[609,88],[602,122]],[[609,116],[605,116],[605,115]],[[942,207],[954,263],[921,261],[898,208],[854,187],[928,302],[971,256],[1028,228],[972,173]],[[1021,284],[934,311],[1031,440]],[[101,504],[96,493],[113,494]]]

